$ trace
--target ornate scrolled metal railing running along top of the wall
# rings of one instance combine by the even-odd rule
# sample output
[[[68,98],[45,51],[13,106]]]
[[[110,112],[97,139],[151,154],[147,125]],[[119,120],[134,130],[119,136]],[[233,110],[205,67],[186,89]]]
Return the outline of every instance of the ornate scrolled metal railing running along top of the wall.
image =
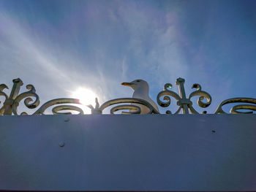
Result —
[[[22,101],[23,99],[25,99],[24,100],[25,107],[29,109],[35,109],[39,107],[39,96],[37,95],[33,85],[26,85],[26,88],[28,89],[28,91],[19,94],[20,86],[23,85],[22,80],[18,78],[18,79],[12,80],[12,82],[13,82],[13,86],[12,86],[12,91],[10,93],[10,96],[7,96],[7,94],[4,93],[4,89],[8,88],[7,85],[4,85],[4,84],[0,85],[0,96],[4,96],[4,99],[5,99],[4,103],[0,108],[0,115],[28,115],[27,112],[21,112],[20,114],[18,114],[18,106],[20,104],[20,101]],[[179,112],[181,112],[181,110],[184,114],[189,114],[189,113],[198,114],[199,112],[197,112],[197,110],[195,110],[195,107],[193,107],[193,102],[191,101],[192,97],[199,96],[199,98],[197,99],[198,106],[206,108],[211,104],[211,100],[212,100],[211,96],[206,91],[202,91],[202,88],[199,84],[194,84],[192,85],[192,89],[195,88],[196,91],[190,93],[189,97],[187,97],[184,89],[184,82],[185,80],[182,78],[178,78],[176,80],[176,85],[178,85],[178,89],[179,89],[179,95],[178,93],[171,91],[171,88],[173,88],[172,84],[166,83],[164,86],[164,90],[160,91],[157,95],[157,104],[159,104],[160,107],[169,107],[170,101],[171,101],[170,98],[173,97],[173,99],[176,99],[177,105],[178,105],[178,110],[176,110],[174,114],[178,114]],[[115,112],[120,110],[129,110],[128,112],[122,111],[121,112],[122,114],[140,114],[141,106],[148,108],[148,114],[159,114],[157,109],[155,109],[150,103],[148,103],[148,101],[145,101],[143,99],[135,99],[135,98],[113,99],[110,101],[106,101],[102,105],[99,105],[99,102],[96,98],[95,103],[96,103],[95,107],[93,107],[91,104],[83,105],[83,106],[89,107],[91,109],[91,114],[102,114],[103,110],[113,105],[114,106],[110,109],[110,114],[115,114]],[[248,104],[237,104],[237,103],[248,103]],[[0,104],[1,104],[1,101],[0,101]],[[45,104],[42,104],[42,106],[39,107],[31,115],[45,115],[45,110],[47,110],[49,107],[53,107],[52,108],[53,115],[72,114],[72,112],[70,111],[76,111],[79,114],[84,114],[82,108],[75,106],[74,104],[82,105],[79,99],[71,99],[71,98],[53,99],[45,102]],[[231,98],[231,99],[226,99],[225,101],[222,101],[214,113],[215,114],[227,113],[222,109],[222,107],[225,104],[236,104],[230,109],[231,114],[234,114],[234,113],[247,114],[247,113],[256,112],[256,99]],[[172,112],[170,112],[170,110],[166,110],[166,113],[171,114]],[[203,114],[206,114],[206,111],[203,111]]]

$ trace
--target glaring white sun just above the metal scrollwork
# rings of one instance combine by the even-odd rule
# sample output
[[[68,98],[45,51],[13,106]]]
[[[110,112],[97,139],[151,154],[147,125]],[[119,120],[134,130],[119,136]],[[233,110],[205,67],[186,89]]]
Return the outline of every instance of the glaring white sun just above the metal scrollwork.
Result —
[[[72,97],[79,99],[81,104],[91,104],[94,106],[97,95],[88,88],[78,88],[72,93]]]

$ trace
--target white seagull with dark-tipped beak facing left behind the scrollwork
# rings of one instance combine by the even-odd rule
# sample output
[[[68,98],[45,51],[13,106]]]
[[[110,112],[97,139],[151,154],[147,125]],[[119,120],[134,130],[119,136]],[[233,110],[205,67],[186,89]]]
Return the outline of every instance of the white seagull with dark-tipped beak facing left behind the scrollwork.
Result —
[[[129,86],[134,90],[132,98],[144,99],[148,101],[148,103],[150,103],[154,107],[154,109],[159,112],[157,104],[155,104],[154,101],[148,96],[148,82],[146,82],[145,80],[134,80],[132,82],[122,82],[121,85]],[[140,114],[147,114],[149,112],[148,107],[142,104],[134,105],[140,107]]]

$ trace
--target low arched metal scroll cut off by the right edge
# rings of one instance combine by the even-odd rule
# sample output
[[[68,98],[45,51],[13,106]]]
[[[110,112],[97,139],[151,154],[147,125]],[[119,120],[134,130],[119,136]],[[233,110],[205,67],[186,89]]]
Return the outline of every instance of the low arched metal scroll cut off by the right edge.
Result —
[[[230,109],[231,114],[238,114],[238,113],[248,114],[248,113],[253,113],[253,111],[256,112],[256,105],[252,105],[252,104],[256,104],[256,99],[242,97],[242,98],[231,98],[231,99],[226,99],[225,101],[222,101],[222,103],[219,104],[219,107],[217,108],[217,110],[214,113],[215,114],[223,114],[223,113],[227,114],[227,112],[225,112],[222,109],[222,106],[224,106],[225,104],[232,104],[232,103],[249,103],[249,104],[238,104],[238,105],[233,106]],[[241,112],[238,110],[251,110],[251,111]]]

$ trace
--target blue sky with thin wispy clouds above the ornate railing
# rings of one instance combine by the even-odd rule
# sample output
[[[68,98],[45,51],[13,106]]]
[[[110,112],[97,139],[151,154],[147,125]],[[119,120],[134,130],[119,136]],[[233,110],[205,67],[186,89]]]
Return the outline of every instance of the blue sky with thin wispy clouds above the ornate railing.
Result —
[[[132,96],[121,82],[148,81],[156,101],[183,77],[187,96],[193,83],[211,94],[212,113],[225,99],[256,97],[255,9],[248,0],[1,0],[0,80],[33,84],[41,104],[78,87],[102,104]]]

